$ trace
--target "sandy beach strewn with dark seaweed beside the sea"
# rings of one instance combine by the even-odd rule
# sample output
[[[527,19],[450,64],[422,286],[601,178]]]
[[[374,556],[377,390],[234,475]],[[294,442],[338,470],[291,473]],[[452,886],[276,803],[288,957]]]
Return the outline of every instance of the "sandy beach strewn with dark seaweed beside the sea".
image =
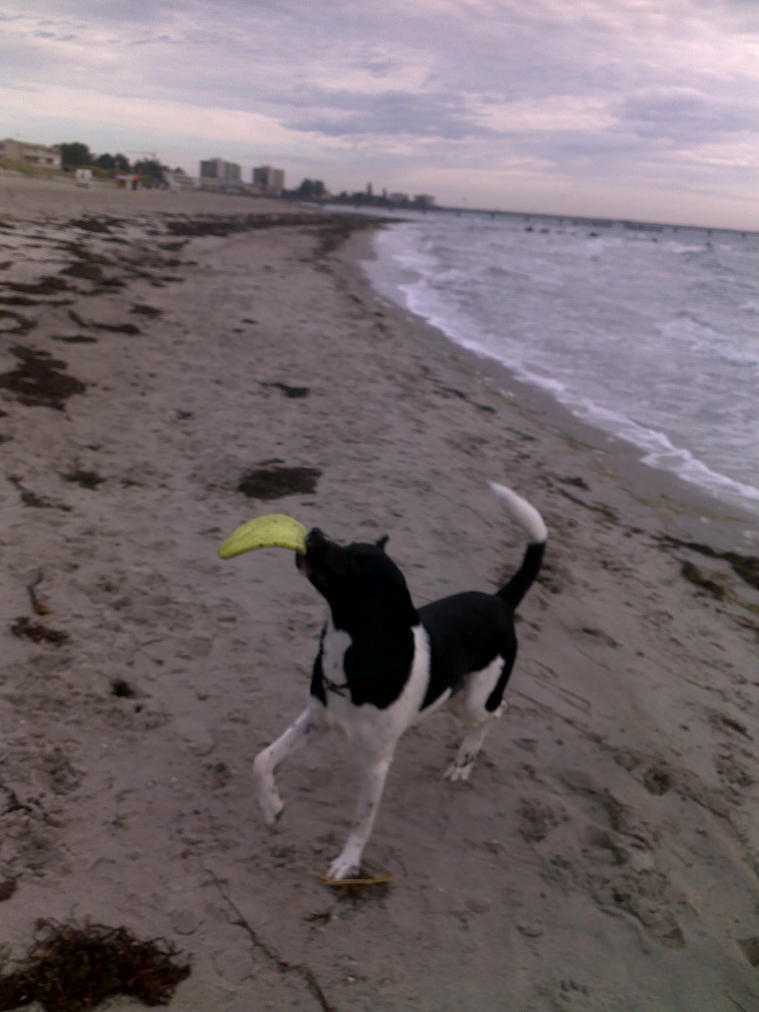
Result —
[[[381,301],[370,227],[0,176],[0,945],[170,939],[186,1012],[757,1009],[752,524]],[[323,602],[219,545],[285,512],[389,534],[419,604],[495,589],[491,480],[550,531],[508,711],[466,784],[447,711],[404,738],[365,852],[395,878],[335,892],[343,743],[282,767],[274,831],[251,782]]]

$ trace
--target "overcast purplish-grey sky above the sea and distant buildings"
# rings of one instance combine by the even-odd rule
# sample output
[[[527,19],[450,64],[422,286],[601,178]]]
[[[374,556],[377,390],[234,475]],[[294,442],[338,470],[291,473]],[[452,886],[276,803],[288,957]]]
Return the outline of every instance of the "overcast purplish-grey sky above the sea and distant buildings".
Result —
[[[0,137],[759,229],[759,0],[3,0]],[[249,178],[249,176],[248,176]]]

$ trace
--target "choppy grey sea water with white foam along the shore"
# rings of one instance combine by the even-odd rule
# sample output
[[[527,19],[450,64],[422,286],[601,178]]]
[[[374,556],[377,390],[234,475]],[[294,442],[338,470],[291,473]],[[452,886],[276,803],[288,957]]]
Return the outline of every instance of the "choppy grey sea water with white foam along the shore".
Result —
[[[374,242],[383,294],[759,515],[759,235],[430,213]]]

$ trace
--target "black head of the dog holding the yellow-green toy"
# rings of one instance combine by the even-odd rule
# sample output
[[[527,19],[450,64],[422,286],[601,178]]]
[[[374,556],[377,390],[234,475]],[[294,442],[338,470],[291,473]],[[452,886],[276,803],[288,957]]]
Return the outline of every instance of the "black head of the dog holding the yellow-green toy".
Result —
[[[386,555],[387,537],[374,544],[340,545],[318,527],[306,536],[306,553],[297,556],[299,570],[327,599],[337,628],[373,624],[415,625],[419,617],[403,573]]]

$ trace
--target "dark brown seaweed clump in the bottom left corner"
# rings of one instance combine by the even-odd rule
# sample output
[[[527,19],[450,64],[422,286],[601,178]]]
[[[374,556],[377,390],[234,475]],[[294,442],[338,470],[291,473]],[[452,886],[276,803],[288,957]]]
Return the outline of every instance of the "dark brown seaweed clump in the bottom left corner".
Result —
[[[26,957],[10,972],[0,967],[0,1012],[32,1002],[45,1012],[87,1012],[115,995],[168,1005],[189,974],[189,962],[166,939],[141,941],[124,927],[41,920]]]

